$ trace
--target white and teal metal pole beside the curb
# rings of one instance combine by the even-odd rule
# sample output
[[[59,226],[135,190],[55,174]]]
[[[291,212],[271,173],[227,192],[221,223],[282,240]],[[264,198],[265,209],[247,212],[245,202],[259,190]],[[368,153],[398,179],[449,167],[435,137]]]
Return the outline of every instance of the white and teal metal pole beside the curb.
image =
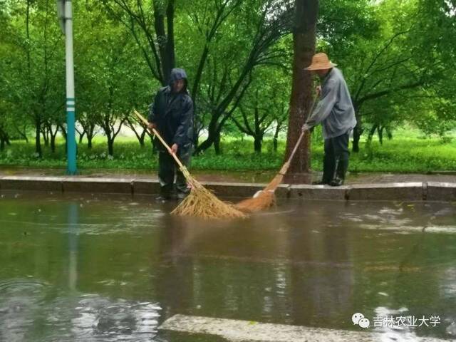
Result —
[[[76,101],[74,96],[73,13],[71,0],[65,0],[65,60],[66,60],[66,129],[67,172],[76,175]]]

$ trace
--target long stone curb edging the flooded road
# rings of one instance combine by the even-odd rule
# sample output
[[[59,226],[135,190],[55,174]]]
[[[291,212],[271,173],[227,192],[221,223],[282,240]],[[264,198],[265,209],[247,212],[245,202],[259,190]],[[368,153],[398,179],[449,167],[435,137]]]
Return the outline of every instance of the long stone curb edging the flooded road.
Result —
[[[202,182],[202,184],[222,197],[250,197],[266,185],[229,182]],[[0,177],[0,191],[2,190],[153,195],[159,192],[160,184],[155,180],[135,178],[4,176]],[[283,184],[277,188],[276,196],[336,201],[453,202],[456,201],[456,182],[400,182],[342,187]]]

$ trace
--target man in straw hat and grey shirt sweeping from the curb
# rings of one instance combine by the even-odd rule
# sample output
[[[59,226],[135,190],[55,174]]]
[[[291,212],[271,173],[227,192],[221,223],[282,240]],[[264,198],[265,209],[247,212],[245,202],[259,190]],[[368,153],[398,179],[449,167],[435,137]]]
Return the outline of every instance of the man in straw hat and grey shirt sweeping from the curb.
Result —
[[[326,53],[316,53],[305,70],[320,78],[317,87],[318,103],[314,106],[302,130],[321,123],[324,138],[323,177],[317,184],[343,185],[348,169],[348,140],[356,126],[355,110],[348,86],[337,64]]]

